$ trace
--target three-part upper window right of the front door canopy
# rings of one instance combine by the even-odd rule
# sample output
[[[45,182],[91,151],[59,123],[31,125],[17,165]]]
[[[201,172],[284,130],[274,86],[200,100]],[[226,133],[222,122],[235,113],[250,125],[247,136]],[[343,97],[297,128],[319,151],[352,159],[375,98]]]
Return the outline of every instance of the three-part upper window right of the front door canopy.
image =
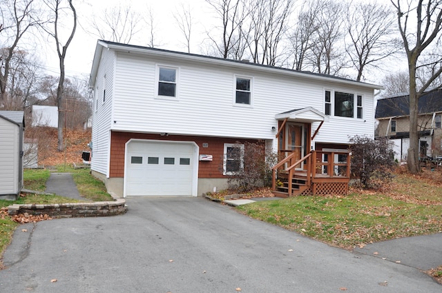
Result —
[[[363,119],[363,95],[325,90],[324,108],[326,115]]]

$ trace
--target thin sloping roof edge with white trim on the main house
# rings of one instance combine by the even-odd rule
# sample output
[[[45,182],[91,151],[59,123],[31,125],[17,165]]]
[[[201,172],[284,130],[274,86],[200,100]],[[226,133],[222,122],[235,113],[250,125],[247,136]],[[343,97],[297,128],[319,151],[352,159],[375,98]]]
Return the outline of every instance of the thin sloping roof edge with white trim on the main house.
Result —
[[[186,52],[176,52],[171,50],[149,48],[144,46],[135,46],[124,43],[115,43],[112,41],[98,40],[97,46],[95,48],[95,54],[93,59],[92,69],[90,71],[89,87],[93,87],[95,84],[95,78],[97,76],[97,70],[99,61],[102,56],[102,49],[107,48],[108,50],[115,50],[117,52],[134,52],[137,54],[144,54],[152,57],[179,57],[181,59],[186,59],[189,61],[198,61],[200,63],[209,63],[211,65],[229,65],[235,68],[253,68],[255,70],[260,70],[273,74],[288,74],[294,77],[304,77],[309,79],[315,79],[317,81],[334,81],[338,83],[343,83],[346,85],[356,85],[363,88],[369,88],[371,90],[379,90],[383,87],[381,85],[374,85],[371,83],[363,83],[361,81],[354,81],[352,79],[345,79],[343,77],[334,77],[327,74],[319,74],[314,72],[291,70],[288,68],[279,68],[275,66],[262,65],[258,63],[252,63],[248,61],[239,61],[232,59],[222,59],[219,57],[210,57],[199,54],[191,54]]]

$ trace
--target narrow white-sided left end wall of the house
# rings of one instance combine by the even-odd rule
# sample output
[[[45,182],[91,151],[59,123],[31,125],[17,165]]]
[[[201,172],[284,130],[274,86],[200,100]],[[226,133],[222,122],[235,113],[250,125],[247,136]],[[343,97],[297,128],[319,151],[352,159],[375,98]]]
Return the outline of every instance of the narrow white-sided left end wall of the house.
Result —
[[[92,162],[91,170],[108,175],[108,161],[110,148],[110,131],[113,102],[113,72],[115,53],[103,50],[97,73],[97,82],[94,88],[93,128],[92,128]],[[106,77],[105,77],[106,76]],[[104,85],[106,81],[106,85]],[[103,102],[104,89],[106,99]],[[96,104],[98,102],[98,104]],[[97,107],[97,108],[95,108]],[[95,110],[97,109],[97,110]]]

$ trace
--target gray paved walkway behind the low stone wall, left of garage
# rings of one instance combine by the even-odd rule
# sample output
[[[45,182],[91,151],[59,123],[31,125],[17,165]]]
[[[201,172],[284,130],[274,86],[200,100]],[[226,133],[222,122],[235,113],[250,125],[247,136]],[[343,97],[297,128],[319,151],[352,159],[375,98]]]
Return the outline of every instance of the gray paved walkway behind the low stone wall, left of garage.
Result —
[[[84,197],[80,196],[77,190],[77,185],[74,183],[72,173],[51,172],[48,181],[46,181],[45,192],[65,196],[70,199],[88,201]]]

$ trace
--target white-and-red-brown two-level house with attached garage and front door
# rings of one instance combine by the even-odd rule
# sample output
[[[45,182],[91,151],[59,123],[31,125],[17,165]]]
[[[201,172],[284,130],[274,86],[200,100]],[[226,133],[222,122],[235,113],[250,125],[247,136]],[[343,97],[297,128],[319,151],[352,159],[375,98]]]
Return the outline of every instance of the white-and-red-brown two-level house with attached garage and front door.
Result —
[[[335,151],[347,152],[356,134],[374,137],[374,90],[380,87],[98,41],[90,88],[91,170],[108,192],[197,196],[226,188],[229,174],[241,168],[229,154],[246,141],[293,154],[298,171],[311,170],[311,163],[299,161],[311,150],[327,150],[311,156],[322,163],[313,170],[338,173],[338,164],[330,164],[348,156]]]

